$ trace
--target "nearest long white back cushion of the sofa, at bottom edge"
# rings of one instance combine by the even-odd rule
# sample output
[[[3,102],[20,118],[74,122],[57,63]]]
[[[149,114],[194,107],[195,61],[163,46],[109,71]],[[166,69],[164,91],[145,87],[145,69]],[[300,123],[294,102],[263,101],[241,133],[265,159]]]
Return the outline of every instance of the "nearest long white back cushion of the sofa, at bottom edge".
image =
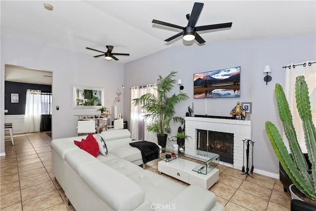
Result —
[[[144,202],[141,187],[103,163],[85,165],[79,169],[79,175],[115,211],[134,210]]]

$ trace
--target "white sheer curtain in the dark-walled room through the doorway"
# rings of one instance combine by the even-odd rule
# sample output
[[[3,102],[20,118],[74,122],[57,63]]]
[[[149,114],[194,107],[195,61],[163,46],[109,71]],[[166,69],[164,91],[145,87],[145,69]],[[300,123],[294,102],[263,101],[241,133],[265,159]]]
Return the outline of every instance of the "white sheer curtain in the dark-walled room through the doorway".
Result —
[[[26,105],[24,117],[24,131],[37,132],[40,131],[41,117],[41,91],[27,89],[26,90]]]

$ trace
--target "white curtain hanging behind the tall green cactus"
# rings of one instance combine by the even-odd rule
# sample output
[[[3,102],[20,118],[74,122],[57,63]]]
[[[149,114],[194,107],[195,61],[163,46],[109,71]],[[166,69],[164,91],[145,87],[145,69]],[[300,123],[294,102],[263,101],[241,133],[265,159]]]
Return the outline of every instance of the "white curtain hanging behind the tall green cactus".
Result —
[[[316,63],[315,61],[306,61],[299,64],[289,64],[286,67],[285,74],[285,96],[288,101],[292,116],[293,125],[296,130],[297,139],[304,153],[307,153],[302,120],[298,114],[295,98],[295,80],[297,76],[304,76],[308,85],[309,96],[311,101],[311,110],[313,122],[316,125]],[[286,139],[283,134],[283,140]]]

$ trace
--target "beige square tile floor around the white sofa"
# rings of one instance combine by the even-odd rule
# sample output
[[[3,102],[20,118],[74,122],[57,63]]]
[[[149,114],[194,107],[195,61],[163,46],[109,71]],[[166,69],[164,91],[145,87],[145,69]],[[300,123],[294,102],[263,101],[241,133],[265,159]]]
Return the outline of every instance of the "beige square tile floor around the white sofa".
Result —
[[[8,137],[9,139],[9,137]],[[5,141],[6,156],[0,157],[0,210],[74,211],[67,206],[64,191],[54,179],[51,166],[51,138],[44,132],[14,135]],[[158,173],[158,159],[147,168]],[[278,179],[254,173],[241,175],[237,169],[218,166],[220,177],[209,190],[226,211],[289,211],[290,194]],[[165,174],[162,176],[187,186]]]

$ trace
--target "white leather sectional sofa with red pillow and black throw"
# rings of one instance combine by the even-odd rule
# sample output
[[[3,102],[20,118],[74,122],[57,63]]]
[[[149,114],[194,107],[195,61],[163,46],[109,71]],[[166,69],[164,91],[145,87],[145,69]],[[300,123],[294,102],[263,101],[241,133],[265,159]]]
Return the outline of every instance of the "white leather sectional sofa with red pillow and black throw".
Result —
[[[53,174],[77,211],[225,210],[212,192],[195,185],[185,187],[139,167],[141,153],[129,145],[127,129],[101,135],[107,157],[95,158],[74,144],[85,136],[51,142]]]

